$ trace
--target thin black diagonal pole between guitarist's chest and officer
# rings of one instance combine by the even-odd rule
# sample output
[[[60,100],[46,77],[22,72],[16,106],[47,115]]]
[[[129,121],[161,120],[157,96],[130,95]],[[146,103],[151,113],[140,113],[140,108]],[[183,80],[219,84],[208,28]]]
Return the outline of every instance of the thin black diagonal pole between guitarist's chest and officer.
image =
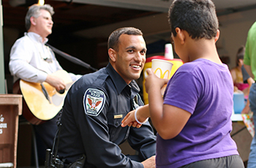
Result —
[[[48,47],[50,47],[55,53],[58,53],[59,56],[62,56],[63,58],[66,58],[67,60],[69,61],[72,61],[72,63],[75,63],[75,64],[78,64],[80,66],[83,66],[83,67],[86,67],[87,69],[92,69],[94,71],[97,71],[98,69],[95,69],[94,67],[91,67],[91,65],[81,61],[80,59],[78,58],[75,58],[73,56],[70,56],[69,54],[67,53],[64,53],[63,51],[57,49],[56,47],[53,47],[51,45],[49,45],[48,43],[46,43],[45,45],[47,45]]]

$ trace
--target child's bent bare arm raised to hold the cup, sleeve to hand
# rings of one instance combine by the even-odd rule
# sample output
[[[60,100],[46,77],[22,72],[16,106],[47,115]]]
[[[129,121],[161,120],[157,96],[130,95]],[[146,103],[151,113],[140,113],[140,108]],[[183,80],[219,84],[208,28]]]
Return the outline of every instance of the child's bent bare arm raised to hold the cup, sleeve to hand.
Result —
[[[181,108],[163,104],[161,88],[164,81],[159,79],[152,71],[147,71],[146,91],[151,121],[158,134],[165,140],[176,137],[186,125],[191,113]]]

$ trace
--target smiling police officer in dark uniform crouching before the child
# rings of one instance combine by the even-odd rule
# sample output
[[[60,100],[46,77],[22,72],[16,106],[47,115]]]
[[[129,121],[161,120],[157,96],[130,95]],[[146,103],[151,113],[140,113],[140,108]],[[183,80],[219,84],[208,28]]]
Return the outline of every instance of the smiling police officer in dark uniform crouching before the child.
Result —
[[[118,28],[108,39],[109,64],[84,75],[69,89],[61,116],[58,155],[65,164],[86,155],[84,167],[155,167],[156,137],[151,125],[121,127],[125,115],[142,106],[135,80],[146,61],[146,43],[138,28]],[[128,140],[138,151],[125,156]]]

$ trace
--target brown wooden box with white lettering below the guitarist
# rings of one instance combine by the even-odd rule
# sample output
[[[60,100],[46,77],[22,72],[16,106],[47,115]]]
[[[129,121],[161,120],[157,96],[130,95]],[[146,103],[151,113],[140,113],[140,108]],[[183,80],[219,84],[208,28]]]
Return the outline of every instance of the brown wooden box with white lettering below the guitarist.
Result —
[[[0,167],[16,168],[18,115],[22,113],[22,95],[0,94]]]

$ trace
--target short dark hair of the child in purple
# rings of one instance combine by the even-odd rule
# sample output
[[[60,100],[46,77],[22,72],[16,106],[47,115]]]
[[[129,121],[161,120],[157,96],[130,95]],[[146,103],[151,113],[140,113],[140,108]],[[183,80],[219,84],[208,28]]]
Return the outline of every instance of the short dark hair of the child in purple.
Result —
[[[192,39],[212,39],[219,27],[211,0],[175,0],[170,5],[168,19],[174,37],[178,27],[187,31]]]

